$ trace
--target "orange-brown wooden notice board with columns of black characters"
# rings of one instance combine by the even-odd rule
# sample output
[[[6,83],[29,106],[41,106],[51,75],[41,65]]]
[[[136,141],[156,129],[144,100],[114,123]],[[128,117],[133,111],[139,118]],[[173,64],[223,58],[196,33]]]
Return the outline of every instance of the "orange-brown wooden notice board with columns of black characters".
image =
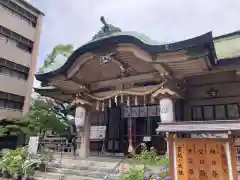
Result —
[[[176,139],[177,180],[229,180],[226,142]]]

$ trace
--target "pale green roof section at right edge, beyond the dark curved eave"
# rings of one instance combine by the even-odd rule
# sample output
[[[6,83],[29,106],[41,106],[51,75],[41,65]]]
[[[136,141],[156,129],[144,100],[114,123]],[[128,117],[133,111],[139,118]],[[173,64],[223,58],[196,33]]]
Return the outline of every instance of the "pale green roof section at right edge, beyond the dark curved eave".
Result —
[[[227,36],[214,40],[218,59],[227,59],[240,56],[240,35]]]

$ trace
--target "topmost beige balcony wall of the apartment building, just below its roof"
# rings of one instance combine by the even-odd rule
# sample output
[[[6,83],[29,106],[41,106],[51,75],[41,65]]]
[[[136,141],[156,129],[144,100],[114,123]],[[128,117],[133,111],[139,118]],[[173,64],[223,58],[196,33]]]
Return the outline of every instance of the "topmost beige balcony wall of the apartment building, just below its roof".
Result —
[[[35,39],[36,29],[32,27],[30,22],[3,6],[0,6],[0,24],[29,40],[34,41]]]

